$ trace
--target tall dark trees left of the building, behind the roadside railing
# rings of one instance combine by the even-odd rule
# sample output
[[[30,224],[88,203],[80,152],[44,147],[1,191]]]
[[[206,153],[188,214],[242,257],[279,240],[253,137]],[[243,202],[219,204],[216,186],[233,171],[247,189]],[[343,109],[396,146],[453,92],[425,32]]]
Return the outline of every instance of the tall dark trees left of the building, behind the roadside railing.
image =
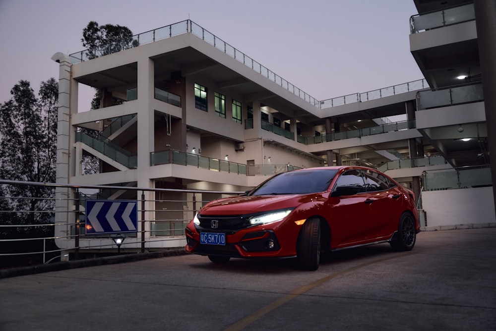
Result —
[[[30,83],[19,81],[11,89],[11,99],[0,105],[0,178],[17,181],[55,182],[57,152],[57,108],[59,84],[51,78],[42,82],[39,99]],[[34,185],[4,185],[0,190],[1,224],[46,224],[54,208],[54,189]],[[39,199],[47,198],[47,199]],[[5,208],[5,209],[4,209]],[[15,211],[23,211],[18,213]],[[33,232],[32,228],[10,228],[18,234]],[[49,231],[47,227],[37,228]],[[2,233],[3,234],[3,233]],[[13,235],[14,233],[10,233]],[[9,237],[12,237],[9,235]]]

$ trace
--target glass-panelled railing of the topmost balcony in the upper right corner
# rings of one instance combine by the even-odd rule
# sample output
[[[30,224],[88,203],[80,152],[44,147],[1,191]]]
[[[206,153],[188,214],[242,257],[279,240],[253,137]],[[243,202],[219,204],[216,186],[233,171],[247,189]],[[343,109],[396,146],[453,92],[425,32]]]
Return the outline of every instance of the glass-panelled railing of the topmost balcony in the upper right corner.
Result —
[[[410,17],[410,33],[419,33],[448,25],[475,20],[474,4],[446,8]]]

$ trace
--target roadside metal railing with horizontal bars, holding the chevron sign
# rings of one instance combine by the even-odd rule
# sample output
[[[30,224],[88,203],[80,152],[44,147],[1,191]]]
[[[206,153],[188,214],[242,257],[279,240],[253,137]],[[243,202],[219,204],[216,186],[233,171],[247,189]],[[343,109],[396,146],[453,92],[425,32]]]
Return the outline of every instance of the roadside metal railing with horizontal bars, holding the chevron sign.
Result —
[[[144,253],[170,247],[168,243],[171,240],[178,243],[175,247],[181,247],[186,224],[205,203],[213,199],[243,193],[64,185],[12,180],[0,180],[0,185],[2,187],[27,185],[41,187],[49,192],[45,196],[0,196],[0,206],[2,206],[0,210],[0,268],[41,265],[52,261],[57,262],[62,258],[78,260],[95,257],[94,252],[100,252],[100,256],[116,255],[121,250],[123,253]],[[64,198],[56,198],[56,189],[67,190],[71,193]],[[101,196],[105,196],[108,190],[125,192],[127,201],[136,202],[138,226],[134,232],[87,234],[85,229],[89,223],[86,222],[86,202],[101,199]],[[88,191],[94,191],[94,193],[88,193]],[[154,198],[145,199],[145,193]],[[44,207],[42,209],[21,208],[19,201],[27,201],[29,206],[43,205]],[[33,201],[42,203],[31,204]],[[65,208],[61,209],[61,206]],[[117,246],[112,239],[116,235],[124,238],[120,246]],[[61,242],[68,247],[61,247]]]

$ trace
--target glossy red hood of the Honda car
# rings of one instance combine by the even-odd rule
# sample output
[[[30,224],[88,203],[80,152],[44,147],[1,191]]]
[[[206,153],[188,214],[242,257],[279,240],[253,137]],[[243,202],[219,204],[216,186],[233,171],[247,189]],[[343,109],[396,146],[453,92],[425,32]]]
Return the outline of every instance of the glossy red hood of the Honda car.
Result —
[[[315,193],[313,193],[315,196]],[[201,215],[243,215],[276,209],[293,208],[305,202],[308,195],[251,195],[214,200],[206,204]]]

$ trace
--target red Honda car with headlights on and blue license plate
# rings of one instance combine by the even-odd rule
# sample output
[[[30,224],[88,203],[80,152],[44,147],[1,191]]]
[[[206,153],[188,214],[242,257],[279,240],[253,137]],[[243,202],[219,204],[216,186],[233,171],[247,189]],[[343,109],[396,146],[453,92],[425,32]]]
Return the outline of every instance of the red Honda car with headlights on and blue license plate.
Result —
[[[413,193],[362,166],[277,174],[246,195],[206,204],[186,226],[186,251],[212,262],[296,257],[316,270],[321,251],[389,242],[409,251],[420,231]]]

